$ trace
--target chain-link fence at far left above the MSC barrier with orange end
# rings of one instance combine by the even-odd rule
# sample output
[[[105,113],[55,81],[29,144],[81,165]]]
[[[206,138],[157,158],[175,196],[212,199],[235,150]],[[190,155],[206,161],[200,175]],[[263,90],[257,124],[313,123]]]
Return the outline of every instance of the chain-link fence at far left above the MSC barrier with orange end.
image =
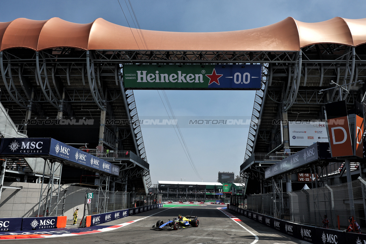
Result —
[[[67,189],[59,193],[51,189],[1,187],[1,217],[58,216],[64,213]],[[39,204],[41,202],[41,204]],[[38,214],[39,212],[39,214]]]

